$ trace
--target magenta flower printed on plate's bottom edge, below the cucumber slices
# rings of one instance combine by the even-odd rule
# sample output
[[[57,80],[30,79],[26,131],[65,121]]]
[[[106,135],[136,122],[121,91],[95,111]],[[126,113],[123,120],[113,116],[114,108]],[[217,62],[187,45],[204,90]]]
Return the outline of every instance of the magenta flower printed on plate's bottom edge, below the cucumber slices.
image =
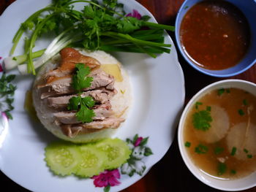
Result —
[[[118,179],[120,179],[120,173],[118,169],[113,169],[112,171],[105,170],[105,172],[102,172],[101,174],[91,178],[94,179],[95,187],[99,188],[109,188],[110,186],[113,187],[120,184],[118,181]]]

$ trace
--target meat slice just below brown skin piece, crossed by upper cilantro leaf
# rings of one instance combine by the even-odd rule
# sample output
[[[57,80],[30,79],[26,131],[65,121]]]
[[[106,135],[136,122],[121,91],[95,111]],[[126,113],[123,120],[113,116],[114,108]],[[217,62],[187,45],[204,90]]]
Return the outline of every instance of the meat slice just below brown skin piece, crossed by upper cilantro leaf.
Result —
[[[114,90],[114,78],[112,75],[105,73],[102,69],[96,69],[89,77],[93,77],[94,80],[91,82],[89,88],[84,88],[83,91],[89,91],[96,88],[106,88],[107,90]],[[56,77],[45,85],[38,85],[41,99],[48,98],[50,96],[67,95],[75,93],[71,86],[72,77]]]

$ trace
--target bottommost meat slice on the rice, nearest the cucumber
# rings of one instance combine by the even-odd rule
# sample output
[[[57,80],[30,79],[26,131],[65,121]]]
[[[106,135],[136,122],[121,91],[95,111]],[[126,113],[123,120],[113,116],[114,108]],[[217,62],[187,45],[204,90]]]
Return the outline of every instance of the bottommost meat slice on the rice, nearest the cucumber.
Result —
[[[67,137],[75,137],[78,134],[88,134],[100,131],[104,128],[118,128],[124,122],[124,118],[105,118],[105,120],[94,120],[91,123],[78,123],[61,125],[61,131]]]

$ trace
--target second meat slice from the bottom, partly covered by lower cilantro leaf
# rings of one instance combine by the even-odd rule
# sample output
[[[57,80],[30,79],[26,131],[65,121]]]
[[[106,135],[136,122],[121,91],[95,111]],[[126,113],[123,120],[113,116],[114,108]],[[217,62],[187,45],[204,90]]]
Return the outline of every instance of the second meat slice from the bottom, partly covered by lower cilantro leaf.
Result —
[[[99,107],[94,110],[94,114],[95,116],[94,118],[92,118],[93,120],[104,120],[105,118],[113,115],[113,111],[107,110],[103,107]],[[54,112],[53,115],[56,120],[63,124],[81,123],[81,121],[76,118],[75,112]]]

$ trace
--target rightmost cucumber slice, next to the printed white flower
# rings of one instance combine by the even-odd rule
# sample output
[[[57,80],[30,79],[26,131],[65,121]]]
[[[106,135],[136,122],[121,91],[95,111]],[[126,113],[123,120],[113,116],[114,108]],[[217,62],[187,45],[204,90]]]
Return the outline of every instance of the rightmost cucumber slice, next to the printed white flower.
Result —
[[[104,152],[108,160],[105,161],[105,169],[116,169],[124,164],[132,151],[127,143],[121,139],[104,139],[95,145],[98,150]]]

